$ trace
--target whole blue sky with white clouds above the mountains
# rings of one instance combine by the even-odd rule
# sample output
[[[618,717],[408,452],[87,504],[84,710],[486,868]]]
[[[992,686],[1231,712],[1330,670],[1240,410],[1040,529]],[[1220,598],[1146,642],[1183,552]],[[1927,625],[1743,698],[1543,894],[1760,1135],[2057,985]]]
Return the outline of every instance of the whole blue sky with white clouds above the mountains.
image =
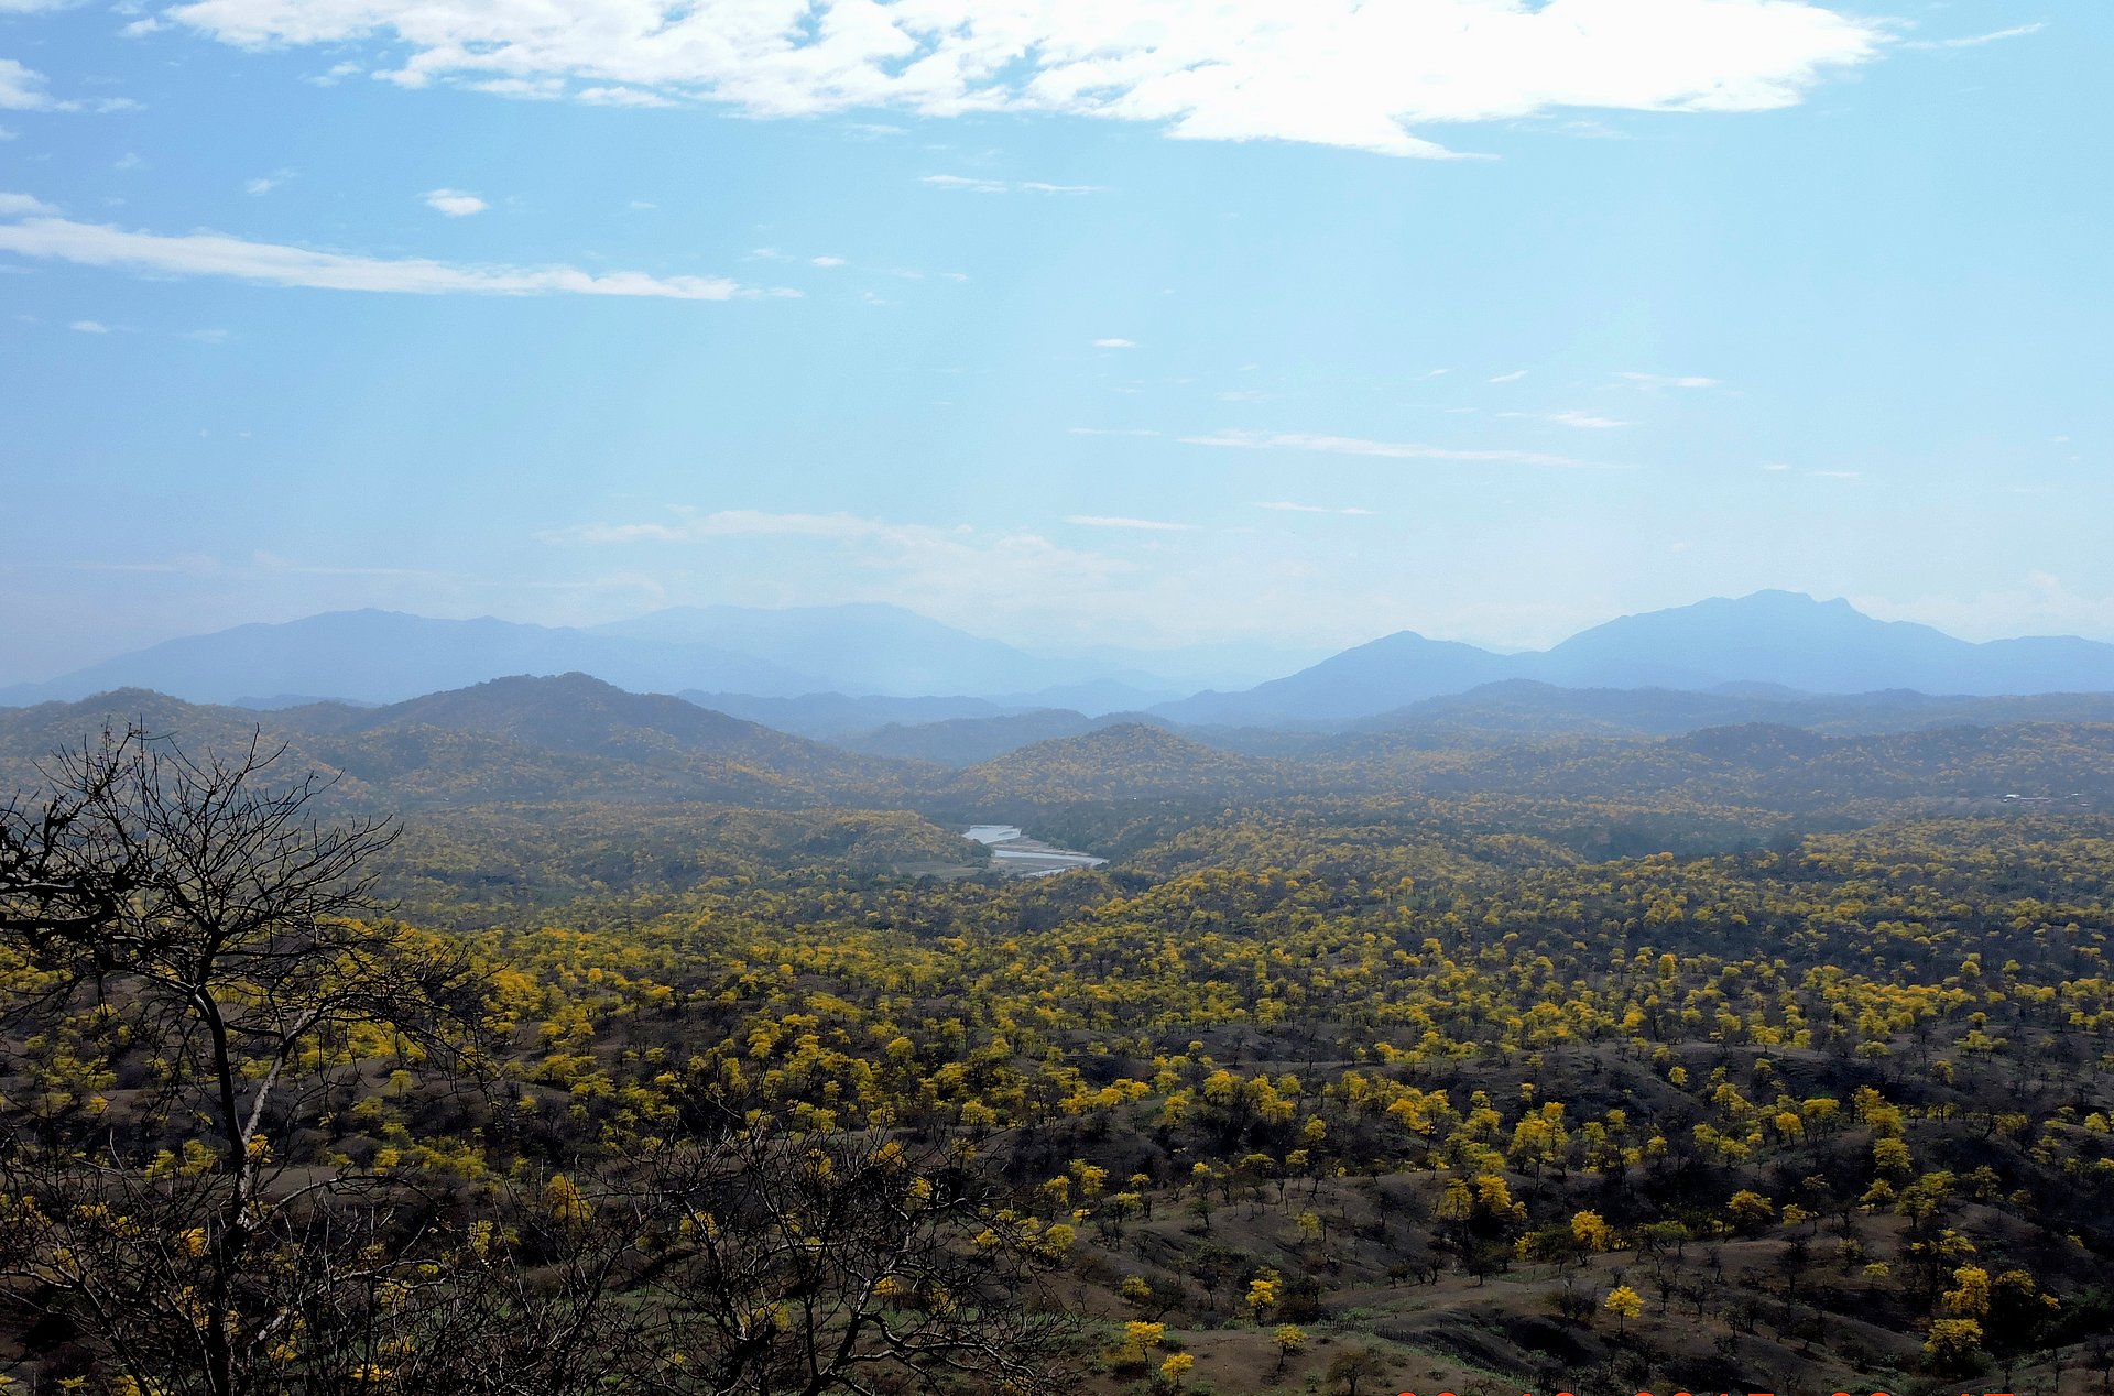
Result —
[[[2103,0],[0,0],[0,683],[892,601],[2114,641]]]

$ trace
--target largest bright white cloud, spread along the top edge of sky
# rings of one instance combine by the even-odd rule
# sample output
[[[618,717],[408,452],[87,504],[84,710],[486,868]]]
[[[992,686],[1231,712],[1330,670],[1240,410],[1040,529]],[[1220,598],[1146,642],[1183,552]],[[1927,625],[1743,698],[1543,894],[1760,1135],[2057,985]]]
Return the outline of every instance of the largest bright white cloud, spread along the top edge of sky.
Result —
[[[1818,0],[190,0],[167,17],[245,47],[404,53],[385,76],[410,87],[1070,112],[1427,157],[1446,150],[1416,127],[1793,106],[1886,44]]]

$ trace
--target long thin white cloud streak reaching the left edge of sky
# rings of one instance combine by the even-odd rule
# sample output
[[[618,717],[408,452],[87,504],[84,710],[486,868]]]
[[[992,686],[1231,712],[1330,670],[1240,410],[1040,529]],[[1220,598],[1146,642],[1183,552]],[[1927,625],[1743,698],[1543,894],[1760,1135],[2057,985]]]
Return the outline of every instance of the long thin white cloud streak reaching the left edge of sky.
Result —
[[[125,267],[186,277],[233,277],[317,290],[482,296],[662,296],[729,300],[753,296],[725,277],[653,277],[643,271],[590,273],[575,267],[467,267],[427,258],[372,258],[254,243],[224,233],[127,233],[63,218],[0,222],[0,252],[82,267]],[[772,292],[791,294],[791,292]]]

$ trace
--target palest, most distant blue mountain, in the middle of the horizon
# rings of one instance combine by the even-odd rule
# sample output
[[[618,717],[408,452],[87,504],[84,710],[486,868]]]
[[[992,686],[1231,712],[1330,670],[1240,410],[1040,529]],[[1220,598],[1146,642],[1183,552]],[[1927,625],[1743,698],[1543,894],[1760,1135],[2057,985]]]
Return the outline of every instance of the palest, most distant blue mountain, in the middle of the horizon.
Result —
[[[1156,690],[1154,698],[1182,692],[1150,675],[1118,673],[1110,664],[1034,656],[896,605],[670,607],[596,626],[594,632],[712,645],[786,668],[820,671],[831,675],[829,687],[854,696],[1025,694],[1097,679],[1144,681]]]

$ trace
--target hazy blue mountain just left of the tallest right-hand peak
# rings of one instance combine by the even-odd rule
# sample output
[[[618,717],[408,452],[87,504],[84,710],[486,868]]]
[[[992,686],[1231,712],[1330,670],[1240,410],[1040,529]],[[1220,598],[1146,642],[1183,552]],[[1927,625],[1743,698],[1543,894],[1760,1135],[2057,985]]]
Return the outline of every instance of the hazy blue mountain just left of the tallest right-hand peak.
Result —
[[[1459,694],[1518,673],[1516,656],[1402,630],[1321,660],[1245,694],[1197,694],[1152,713],[1180,723],[1328,721],[1385,713],[1418,698]]]

